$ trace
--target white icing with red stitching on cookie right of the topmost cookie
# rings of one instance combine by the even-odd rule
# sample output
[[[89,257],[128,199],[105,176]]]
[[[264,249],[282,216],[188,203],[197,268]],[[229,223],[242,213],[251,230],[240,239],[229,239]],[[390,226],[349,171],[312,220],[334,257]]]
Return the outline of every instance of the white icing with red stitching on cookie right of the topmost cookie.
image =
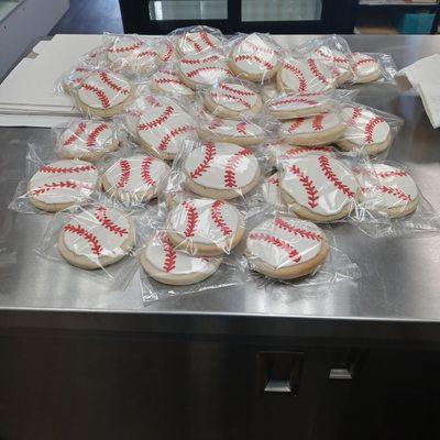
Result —
[[[231,58],[235,66],[249,75],[262,75],[278,66],[278,55],[273,44],[257,34],[248,35],[235,45]]]

